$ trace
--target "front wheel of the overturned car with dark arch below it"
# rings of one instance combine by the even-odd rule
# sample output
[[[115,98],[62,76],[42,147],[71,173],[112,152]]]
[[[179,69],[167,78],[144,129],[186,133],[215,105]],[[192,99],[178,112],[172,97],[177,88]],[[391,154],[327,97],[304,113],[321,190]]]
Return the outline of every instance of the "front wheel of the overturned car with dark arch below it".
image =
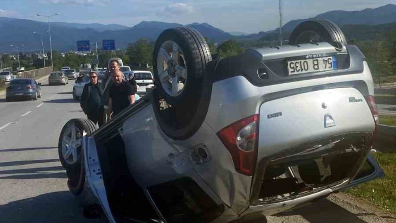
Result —
[[[85,169],[82,156],[82,137],[97,129],[88,119],[70,119],[62,128],[58,142],[59,160],[69,177],[67,185],[73,194],[84,188]]]

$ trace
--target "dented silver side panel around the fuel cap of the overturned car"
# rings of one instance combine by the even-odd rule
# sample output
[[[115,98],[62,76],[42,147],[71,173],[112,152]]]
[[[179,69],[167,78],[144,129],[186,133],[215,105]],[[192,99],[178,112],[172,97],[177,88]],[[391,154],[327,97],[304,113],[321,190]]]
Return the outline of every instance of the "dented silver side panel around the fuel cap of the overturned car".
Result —
[[[207,188],[212,199],[224,202],[228,207],[234,204],[232,210],[235,213],[246,210],[251,177],[236,173],[229,152],[206,123],[188,140],[171,140],[157,125],[149,104],[127,119],[123,126],[129,170],[142,188],[183,175],[191,176],[190,171],[196,171],[200,177],[194,177],[194,181]],[[177,162],[179,157],[186,158],[186,152],[198,144],[206,145],[212,160],[200,165],[186,160],[182,165]],[[170,153],[173,158],[169,158]]]

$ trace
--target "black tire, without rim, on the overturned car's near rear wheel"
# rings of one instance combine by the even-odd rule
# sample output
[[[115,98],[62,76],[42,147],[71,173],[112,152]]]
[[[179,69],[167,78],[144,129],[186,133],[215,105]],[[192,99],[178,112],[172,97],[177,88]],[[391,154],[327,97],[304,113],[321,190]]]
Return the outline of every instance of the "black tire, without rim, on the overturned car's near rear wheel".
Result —
[[[186,61],[187,80],[183,92],[178,96],[170,96],[166,93],[158,77],[157,56],[161,45],[167,40],[171,40],[179,45]],[[177,27],[165,30],[156,40],[153,55],[154,84],[158,89],[158,93],[172,106],[184,104],[192,98],[199,98],[200,90],[203,87],[202,82],[205,75],[206,64],[211,60],[212,57],[208,43],[195,29],[190,27]]]

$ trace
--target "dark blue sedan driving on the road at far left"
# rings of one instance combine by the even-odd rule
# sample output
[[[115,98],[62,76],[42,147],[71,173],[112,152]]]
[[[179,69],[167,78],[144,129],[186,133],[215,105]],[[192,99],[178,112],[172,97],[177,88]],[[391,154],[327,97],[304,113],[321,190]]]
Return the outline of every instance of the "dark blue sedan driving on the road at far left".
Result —
[[[37,83],[32,78],[14,79],[6,89],[6,101],[13,99],[33,99],[41,98],[41,83]]]

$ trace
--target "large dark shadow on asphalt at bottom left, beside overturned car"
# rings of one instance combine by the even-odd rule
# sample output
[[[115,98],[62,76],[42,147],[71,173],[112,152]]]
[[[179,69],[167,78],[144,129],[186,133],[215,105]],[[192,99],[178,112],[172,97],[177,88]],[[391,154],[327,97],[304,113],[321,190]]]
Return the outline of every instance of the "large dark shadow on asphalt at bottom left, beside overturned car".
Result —
[[[0,216],[6,222],[13,223],[105,222],[84,219],[78,200],[69,191],[51,192],[10,202],[0,206]]]

